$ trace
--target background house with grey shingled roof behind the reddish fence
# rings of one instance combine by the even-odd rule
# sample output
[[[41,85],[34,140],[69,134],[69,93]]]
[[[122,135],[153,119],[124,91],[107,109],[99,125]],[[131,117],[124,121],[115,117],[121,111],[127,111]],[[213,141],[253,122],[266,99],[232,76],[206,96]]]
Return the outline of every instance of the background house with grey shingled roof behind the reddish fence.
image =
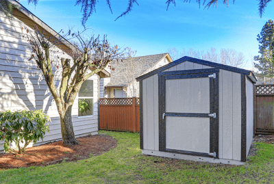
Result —
[[[136,77],[173,62],[169,53],[132,57],[112,64],[110,78],[100,79],[100,98],[139,96]]]

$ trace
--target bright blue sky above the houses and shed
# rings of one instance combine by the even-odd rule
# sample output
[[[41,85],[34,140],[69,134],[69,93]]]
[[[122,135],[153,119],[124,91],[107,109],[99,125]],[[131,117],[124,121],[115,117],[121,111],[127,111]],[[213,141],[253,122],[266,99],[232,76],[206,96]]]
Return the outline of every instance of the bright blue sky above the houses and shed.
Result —
[[[136,56],[166,53],[175,47],[179,51],[208,51],[235,49],[246,59],[258,55],[257,35],[269,19],[274,18],[274,2],[266,7],[262,18],[258,14],[258,1],[229,1],[228,8],[221,1],[217,8],[203,10],[196,1],[183,3],[176,1],[166,11],[166,0],[138,0],[132,12],[114,21],[127,8],[127,0],[112,0],[111,14],[107,3],[100,0],[96,13],[86,23],[91,29],[87,34],[107,34],[112,44],[136,50]],[[38,5],[28,5],[27,0],[20,3],[38,16],[55,31],[74,27],[83,29],[81,7],[75,0],[40,0]],[[252,68],[249,62],[245,68]]]

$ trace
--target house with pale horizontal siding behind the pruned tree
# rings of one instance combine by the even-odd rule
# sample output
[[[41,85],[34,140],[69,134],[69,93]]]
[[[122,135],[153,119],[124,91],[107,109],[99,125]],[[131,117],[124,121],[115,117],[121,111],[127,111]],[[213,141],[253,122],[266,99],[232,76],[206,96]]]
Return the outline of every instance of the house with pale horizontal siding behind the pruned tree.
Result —
[[[18,10],[14,10],[10,18],[0,12],[0,111],[42,109],[51,117],[50,133],[45,135],[44,142],[62,140],[60,117],[55,101],[36,62],[29,60],[31,51],[27,41],[27,35],[33,31],[34,25],[37,25],[39,29],[44,29],[47,35],[59,35],[23,5],[16,1],[12,3],[16,4]],[[60,58],[72,59],[68,54],[72,47],[71,43],[64,41],[58,47],[53,48],[51,58],[57,59],[56,57],[60,56]],[[62,70],[61,68],[59,66],[59,69],[56,67],[53,69],[56,86],[60,83],[58,71]],[[97,134],[99,79],[109,76],[110,74],[103,70],[99,75],[93,75],[83,83],[72,111],[76,137]],[[90,96],[81,97],[81,92],[86,90],[90,92]],[[87,114],[78,114],[79,99],[89,101],[91,110]],[[38,144],[40,142],[41,140]],[[3,142],[0,142],[0,150],[3,150]]]

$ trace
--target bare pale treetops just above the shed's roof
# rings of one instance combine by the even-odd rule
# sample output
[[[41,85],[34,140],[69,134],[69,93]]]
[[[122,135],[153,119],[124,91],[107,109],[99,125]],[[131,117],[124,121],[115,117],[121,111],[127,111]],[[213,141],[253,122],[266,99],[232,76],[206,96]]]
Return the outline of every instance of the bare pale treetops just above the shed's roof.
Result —
[[[173,60],[177,60],[185,55],[189,57],[195,57],[201,60],[207,60],[210,62],[216,62],[220,64],[226,64],[229,66],[234,66],[242,68],[249,62],[245,60],[245,56],[241,52],[237,52],[234,49],[221,49],[220,54],[216,53],[216,49],[211,48],[209,51],[195,51],[192,48],[186,51],[184,48],[182,51],[178,51],[175,48],[168,49],[169,55]]]

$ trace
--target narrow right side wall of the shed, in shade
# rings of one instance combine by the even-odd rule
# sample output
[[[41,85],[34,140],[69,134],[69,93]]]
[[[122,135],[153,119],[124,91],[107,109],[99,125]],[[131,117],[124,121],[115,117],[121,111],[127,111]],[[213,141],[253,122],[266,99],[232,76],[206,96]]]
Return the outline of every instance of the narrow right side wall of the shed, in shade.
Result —
[[[247,155],[253,139],[253,83],[247,81]]]

